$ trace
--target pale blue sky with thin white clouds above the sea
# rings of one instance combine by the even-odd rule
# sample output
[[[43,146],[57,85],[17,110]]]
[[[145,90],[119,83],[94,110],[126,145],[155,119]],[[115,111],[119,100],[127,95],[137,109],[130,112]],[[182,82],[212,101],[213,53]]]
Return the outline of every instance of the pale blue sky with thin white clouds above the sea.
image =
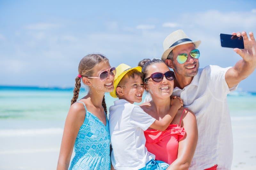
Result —
[[[102,53],[111,66],[161,58],[163,41],[182,29],[201,40],[200,67],[234,66],[219,34],[256,35],[256,1],[0,0],[0,85],[73,87],[79,61]],[[256,91],[256,71],[239,84]]]

